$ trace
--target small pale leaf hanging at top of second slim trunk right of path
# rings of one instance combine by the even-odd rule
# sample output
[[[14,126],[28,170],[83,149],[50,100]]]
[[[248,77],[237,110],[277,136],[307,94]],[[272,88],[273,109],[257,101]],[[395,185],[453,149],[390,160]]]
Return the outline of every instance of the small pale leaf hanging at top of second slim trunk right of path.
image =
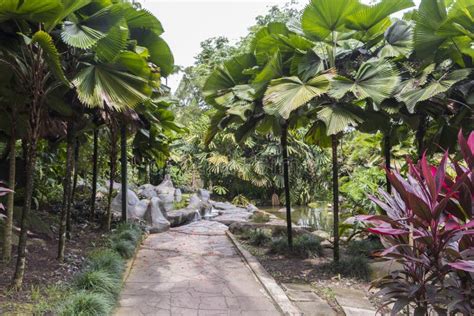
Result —
[[[348,106],[335,104],[326,106],[318,112],[318,118],[324,122],[327,128],[327,135],[336,135],[344,131],[349,126],[357,126],[363,120]]]

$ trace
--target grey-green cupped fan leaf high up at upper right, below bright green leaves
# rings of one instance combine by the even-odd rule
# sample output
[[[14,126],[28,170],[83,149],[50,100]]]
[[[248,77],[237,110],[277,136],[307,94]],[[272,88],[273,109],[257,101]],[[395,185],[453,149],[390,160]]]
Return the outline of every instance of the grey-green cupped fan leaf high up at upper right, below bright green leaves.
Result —
[[[379,52],[379,57],[408,57],[413,49],[413,30],[410,24],[397,20],[385,31],[385,45]]]

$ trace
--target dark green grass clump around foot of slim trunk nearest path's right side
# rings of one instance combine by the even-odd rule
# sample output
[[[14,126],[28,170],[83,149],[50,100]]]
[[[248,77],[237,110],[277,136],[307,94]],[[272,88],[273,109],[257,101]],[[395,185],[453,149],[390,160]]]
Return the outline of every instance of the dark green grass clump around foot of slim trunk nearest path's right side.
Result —
[[[323,255],[320,240],[313,235],[299,235],[293,239],[293,250],[290,252],[287,237],[274,239],[270,244],[270,253],[294,255],[300,258],[309,258]]]

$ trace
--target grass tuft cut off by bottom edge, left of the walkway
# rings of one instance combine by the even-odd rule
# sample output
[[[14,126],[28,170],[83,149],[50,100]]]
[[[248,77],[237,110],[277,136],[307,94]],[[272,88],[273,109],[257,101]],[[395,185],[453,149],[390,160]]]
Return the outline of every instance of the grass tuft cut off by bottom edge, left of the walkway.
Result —
[[[60,316],[98,316],[109,315],[113,303],[110,299],[94,292],[80,291],[66,300],[59,309]]]

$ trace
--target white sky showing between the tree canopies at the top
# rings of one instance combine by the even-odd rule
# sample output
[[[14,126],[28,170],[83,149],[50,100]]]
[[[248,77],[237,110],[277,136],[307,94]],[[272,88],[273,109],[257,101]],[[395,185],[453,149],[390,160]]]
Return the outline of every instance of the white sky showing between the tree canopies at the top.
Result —
[[[200,43],[210,37],[226,36],[236,41],[275,4],[288,0],[139,0],[162,23],[163,38],[171,47],[175,64],[191,66]],[[367,0],[366,2],[370,2]],[[419,3],[419,0],[415,0]],[[309,0],[298,0],[303,7]],[[177,87],[181,76],[171,76],[168,85]]]

